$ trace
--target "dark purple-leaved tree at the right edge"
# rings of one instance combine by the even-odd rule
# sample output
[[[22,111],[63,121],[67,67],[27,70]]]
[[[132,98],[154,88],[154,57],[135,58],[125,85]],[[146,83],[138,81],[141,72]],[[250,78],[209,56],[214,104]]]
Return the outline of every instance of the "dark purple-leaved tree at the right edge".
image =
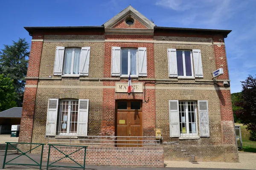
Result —
[[[249,75],[242,83],[242,93],[236,106],[236,117],[241,123],[247,125],[251,134],[256,134],[256,77]],[[253,136],[252,136],[253,137]]]

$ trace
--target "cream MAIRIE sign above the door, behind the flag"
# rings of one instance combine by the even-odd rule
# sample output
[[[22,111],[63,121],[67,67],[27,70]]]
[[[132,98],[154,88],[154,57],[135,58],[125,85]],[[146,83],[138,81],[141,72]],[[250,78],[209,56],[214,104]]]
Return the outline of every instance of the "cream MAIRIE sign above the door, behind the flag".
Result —
[[[142,93],[143,85],[142,82],[131,82],[132,92]],[[116,92],[127,93],[128,82],[116,82]]]

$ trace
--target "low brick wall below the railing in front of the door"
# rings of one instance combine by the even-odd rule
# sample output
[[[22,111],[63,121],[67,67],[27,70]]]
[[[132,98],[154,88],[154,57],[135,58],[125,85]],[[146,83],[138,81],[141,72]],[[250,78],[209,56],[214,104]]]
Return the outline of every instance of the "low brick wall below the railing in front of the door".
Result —
[[[79,147],[57,147],[65,154],[72,153]],[[49,146],[44,146],[43,160],[47,160]],[[64,155],[51,147],[50,161],[57,161]],[[83,164],[84,149],[70,156]],[[73,162],[64,158],[61,161]],[[120,167],[164,167],[162,147],[88,147],[86,164],[110,165]]]

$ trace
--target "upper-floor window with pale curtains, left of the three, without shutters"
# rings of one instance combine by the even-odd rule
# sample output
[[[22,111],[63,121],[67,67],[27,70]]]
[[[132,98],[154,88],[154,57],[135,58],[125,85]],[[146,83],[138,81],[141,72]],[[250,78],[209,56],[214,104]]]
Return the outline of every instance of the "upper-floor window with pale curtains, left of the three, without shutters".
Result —
[[[79,74],[81,48],[67,48],[64,56],[63,75]]]

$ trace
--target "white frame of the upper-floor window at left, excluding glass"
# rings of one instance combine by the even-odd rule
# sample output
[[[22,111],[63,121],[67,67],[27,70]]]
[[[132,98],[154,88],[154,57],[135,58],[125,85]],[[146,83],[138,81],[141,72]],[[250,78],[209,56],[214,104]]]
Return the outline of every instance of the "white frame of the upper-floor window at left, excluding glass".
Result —
[[[67,57],[67,50],[68,49],[72,49],[72,62],[71,62],[71,68],[70,68],[70,74],[64,74],[65,73],[65,65],[66,65],[66,57]],[[78,65],[78,74],[73,74],[73,70],[74,70],[74,59],[75,59],[75,50],[76,49],[80,49],[80,56],[79,56],[79,65]],[[63,62],[63,70],[62,70],[62,77],[79,77],[80,74],[80,58],[81,58],[81,48],[65,48],[65,52],[64,52],[64,62]]]

